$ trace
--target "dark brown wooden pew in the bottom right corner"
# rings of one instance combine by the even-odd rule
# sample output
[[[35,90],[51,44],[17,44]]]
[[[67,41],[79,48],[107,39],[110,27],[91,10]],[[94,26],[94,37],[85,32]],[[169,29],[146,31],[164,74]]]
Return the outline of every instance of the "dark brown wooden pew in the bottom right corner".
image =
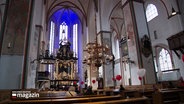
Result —
[[[153,104],[183,103],[184,89],[162,89],[153,94]]]

